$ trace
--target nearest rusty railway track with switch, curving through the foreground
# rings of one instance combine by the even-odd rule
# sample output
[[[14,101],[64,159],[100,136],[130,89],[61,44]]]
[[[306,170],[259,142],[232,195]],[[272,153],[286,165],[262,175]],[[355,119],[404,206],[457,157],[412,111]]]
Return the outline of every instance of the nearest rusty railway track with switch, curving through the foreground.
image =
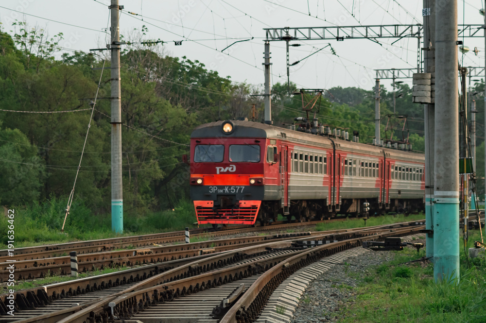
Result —
[[[191,298],[193,302],[200,302],[201,306],[204,305],[206,308],[211,308],[212,311],[214,310],[214,307],[211,306],[214,302],[207,303],[208,301],[197,301],[194,297],[198,295],[205,295],[204,297],[207,297],[208,294],[204,293],[214,289],[215,294],[214,296],[211,296],[211,300],[221,301],[221,295],[225,294],[230,289],[232,290],[237,285],[240,286],[241,282],[243,281],[246,282],[245,290],[248,289],[248,292],[254,293],[255,296],[258,296],[260,295],[261,291],[268,289],[263,288],[264,286],[268,285],[267,283],[274,284],[276,281],[278,281],[278,279],[280,279],[275,279],[275,275],[269,278],[270,276],[268,275],[270,275],[270,273],[275,273],[276,275],[279,275],[278,277],[284,277],[287,273],[290,274],[295,272],[297,269],[300,269],[300,267],[304,266],[304,264],[309,264],[311,260],[314,261],[324,256],[330,256],[333,253],[344,251],[347,248],[358,246],[361,244],[363,239],[369,239],[366,237],[373,236],[373,239],[377,240],[391,235],[409,235],[413,232],[418,232],[418,230],[421,228],[422,227],[420,225],[414,227],[399,226],[399,228],[396,229],[380,226],[378,228],[366,228],[361,231],[353,230],[349,232],[333,234],[327,233],[293,239],[285,238],[281,240],[272,240],[270,242],[260,241],[260,243],[251,246],[240,245],[240,248],[235,250],[221,251],[211,255],[201,255],[197,256],[197,258],[182,259],[181,261],[185,261],[184,264],[160,264],[159,267],[162,265],[165,266],[163,268],[163,272],[156,273],[155,270],[152,269],[154,272],[152,272],[151,275],[146,275],[147,277],[145,277],[145,279],[140,279],[138,283],[133,285],[133,281],[128,281],[126,279],[128,274],[125,274],[126,283],[123,284],[124,289],[122,291],[119,289],[108,289],[111,290],[109,292],[110,296],[105,296],[103,299],[96,298],[94,296],[96,294],[93,291],[91,293],[93,296],[91,296],[89,299],[84,299],[80,302],[72,301],[72,303],[74,303],[73,307],[39,315],[40,313],[35,312],[35,309],[21,308],[21,306],[17,306],[18,308],[16,309],[16,315],[27,315],[26,310],[30,311],[29,314],[34,312],[36,313],[37,316],[34,318],[23,317],[23,320],[18,321],[22,323],[40,322],[38,320],[43,320],[43,322],[114,322],[115,317],[117,319],[130,318],[133,320],[137,315],[145,315],[143,313],[145,313],[145,310],[148,308],[153,308],[153,310],[157,311],[158,309],[156,308],[158,308],[157,306],[159,304],[168,304],[174,306],[175,303],[173,302],[181,302],[182,299],[186,299],[189,302]],[[295,245],[296,240],[321,240],[323,245],[302,249],[302,247]],[[162,270],[160,269],[160,271]],[[123,272],[119,272],[117,274],[123,274]],[[132,276],[133,274],[134,272],[132,273]],[[108,279],[111,280],[111,285],[116,288],[122,285],[118,284],[118,286],[116,286],[117,284],[114,284],[114,282],[116,282],[114,276],[110,278],[108,274],[103,279],[105,282]],[[262,279],[265,281],[263,285],[261,285]],[[82,284],[86,284],[87,281],[89,281],[88,278],[86,278]],[[120,281],[120,278],[118,281]],[[69,282],[69,284],[76,283],[77,281]],[[91,283],[91,286],[93,286],[92,284],[93,283]],[[78,286],[79,285],[81,284],[78,283]],[[105,283],[104,285],[106,286],[107,284]],[[219,286],[226,287],[222,287],[222,289],[220,289],[218,292],[218,289],[215,288]],[[97,287],[99,288],[100,285],[97,284]],[[52,294],[53,300],[52,302],[49,302],[49,304],[54,304],[56,299],[60,299],[60,297],[57,297],[57,295],[59,295],[59,289],[61,287],[57,286],[56,288],[58,291],[55,294]],[[65,295],[69,294],[66,293],[68,286],[64,286],[62,288],[65,291]],[[71,289],[71,293],[72,290],[79,290],[78,288],[75,288],[74,285],[69,288]],[[35,295],[39,293],[42,295],[44,292],[51,296],[50,293],[52,293],[52,289],[53,287],[47,286],[42,289],[30,290],[30,296],[32,297],[33,294]],[[244,295],[248,294],[248,292],[245,292]],[[16,304],[17,300],[22,299],[22,296],[19,296],[20,294],[25,295],[25,292],[22,291],[16,295]],[[28,299],[28,296],[29,295],[24,297]],[[226,296],[228,295],[225,295],[225,297]],[[243,296],[238,302],[241,302]],[[261,298],[263,296],[259,297]],[[250,298],[245,298],[245,302],[249,302]],[[68,298],[68,300],[71,301],[71,298]],[[255,299],[252,299],[249,304],[252,304],[254,300]],[[4,302],[4,299],[2,299],[2,301]],[[63,301],[63,303],[69,304],[69,301]],[[42,308],[44,311],[47,311],[49,307],[55,308],[55,306],[56,305],[45,306],[44,304],[44,307],[38,306],[37,308]],[[241,311],[242,308],[244,309],[243,312]],[[235,313],[238,313],[240,317],[242,315],[244,316],[247,312],[246,308],[249,307],[240,307],[240,310],[236,311]],[[233,307],[231,307],[227,315],[232,313],[232,310]],[[167,309],[161,311],[167,312]],[[255,310],[252,311],[253,314],[251,315],[255,315]],[[169,312],[174,311],[169,310]],[[14,322],[11,320],[11,317],[6,318],[4,313],[0,314],[0,322]],[[219,314],[221,315],[221,313]],[[234,316],[235,318],[236,315],[237,314]],[[222,319],[225,319],[225,317],[222,317]],[[210,319],[210,317],[208,318]],[[143,319],[143,322],[149,321]]]

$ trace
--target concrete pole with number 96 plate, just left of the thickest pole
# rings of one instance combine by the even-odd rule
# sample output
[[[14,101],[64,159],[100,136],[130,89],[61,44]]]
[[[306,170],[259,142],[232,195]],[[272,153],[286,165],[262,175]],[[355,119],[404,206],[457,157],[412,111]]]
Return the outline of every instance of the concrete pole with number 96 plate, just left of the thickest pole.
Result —
[[[424,17],[424,72],[435,72],[435,0],[423,0],[423,8],[430,8]],[[430,47],[429,47],[430,46]],[[425,121],[425,229],[430,230],[425,240],[426,257],[434,256],[434,130],[435,104],[424,104]],[[434,258],[431,258],[434,261]]]

